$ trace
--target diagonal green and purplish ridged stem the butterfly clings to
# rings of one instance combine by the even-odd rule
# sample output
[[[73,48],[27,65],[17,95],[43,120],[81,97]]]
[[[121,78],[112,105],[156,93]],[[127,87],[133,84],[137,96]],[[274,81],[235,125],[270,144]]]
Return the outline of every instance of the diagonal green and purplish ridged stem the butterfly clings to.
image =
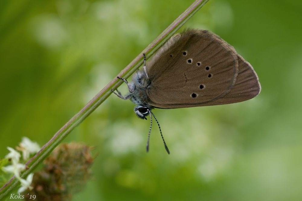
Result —
[[[185,12],[183,12],[172,24],[169,25],[153,42],[149,44],[136,58],[131,61],[119,74],[119,77],[128,78],[143,63],[143,53],[149,58],[162,44],[167,41],[185,22],[187,22],[208,0],[196,0]],[[111,95],[110,89],[116,89],[122,81],[114,78],[91,101],[74,115],[56,134],[42,147],[42,149],[27,163],[27,169],[21,174],[25,178],[59,145],[59,143],[85,118],[87,118],[101,103]],[[18,180],[12,177],[1,189],[0,200],[8,196],[17,186]]]

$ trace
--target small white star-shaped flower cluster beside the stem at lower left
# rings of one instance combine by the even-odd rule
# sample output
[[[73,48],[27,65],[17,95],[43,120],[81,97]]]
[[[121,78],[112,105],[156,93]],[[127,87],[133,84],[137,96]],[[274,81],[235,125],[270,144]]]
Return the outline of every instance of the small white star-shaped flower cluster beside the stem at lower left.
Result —
[[[22,142],[20,143],[19,146],[20,147],[18,147],[17,149],[22,152],[24,160],[29,159],[30,154],[37,153],[40,150],[40,146],[37,143],[32,142],[27,137],[22,138]],[[2,170],[5,172],[14,173],[16,178],[21,182],[21,187],[19,188],[18,193],[22,193],[27,188],[31,190],[33,188],[31,187],[31,182],[33,180],[34,173],[29,174],[26,180],[22,179],[20,177],[20,172],[25,170],[25,165],[19,163],[21,154],[11,147],[7,147],[7,149],[10,152],[8,153],[8,155],[5,156],[5,158],[11,159],[11,165],[2,167]]]

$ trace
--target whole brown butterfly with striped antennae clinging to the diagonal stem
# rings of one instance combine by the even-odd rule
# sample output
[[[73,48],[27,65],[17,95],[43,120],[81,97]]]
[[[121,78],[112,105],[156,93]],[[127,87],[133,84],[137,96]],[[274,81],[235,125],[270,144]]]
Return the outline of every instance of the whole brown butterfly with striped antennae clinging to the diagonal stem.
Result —
[[[123,96],[137,106],[135,114],[142,119],[150,116],[152,128],[154,108],[186,108],[242,102],[261,91],[258,76],[249,62],[216,34],[192,29],[172,36],[148,61],[144,55],[143,68],[130,83],[122,77],[129,89]],[[152,116],[151,116],[152,115]],[[165,149],[169,149],[162,136]]]

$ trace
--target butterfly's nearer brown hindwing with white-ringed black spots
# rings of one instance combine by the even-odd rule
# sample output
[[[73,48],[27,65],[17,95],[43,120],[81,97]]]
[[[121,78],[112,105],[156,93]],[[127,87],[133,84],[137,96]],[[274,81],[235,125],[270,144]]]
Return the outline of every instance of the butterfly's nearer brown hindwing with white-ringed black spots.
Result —
[[[147,66],[149,104],[157,108],[219,105],[236,83],[238,58],[231,46],[206,30],[171,38]]]

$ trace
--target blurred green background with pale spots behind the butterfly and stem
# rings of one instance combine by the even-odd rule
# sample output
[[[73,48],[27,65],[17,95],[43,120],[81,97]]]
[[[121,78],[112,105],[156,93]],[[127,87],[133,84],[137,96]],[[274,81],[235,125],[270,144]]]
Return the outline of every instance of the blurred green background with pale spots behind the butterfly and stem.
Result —
[[[41,146],[193,1],[2,0],[0,157]],[[73,200],[301,200],[301,1],[210,0],[181,30],[211,30],[259,75],[246,102],[154,110],[110,96],[65,142],[95,146]],[[181,31],[180,30],[180,31]],[[127,86],[120,87],[123,94]]]

